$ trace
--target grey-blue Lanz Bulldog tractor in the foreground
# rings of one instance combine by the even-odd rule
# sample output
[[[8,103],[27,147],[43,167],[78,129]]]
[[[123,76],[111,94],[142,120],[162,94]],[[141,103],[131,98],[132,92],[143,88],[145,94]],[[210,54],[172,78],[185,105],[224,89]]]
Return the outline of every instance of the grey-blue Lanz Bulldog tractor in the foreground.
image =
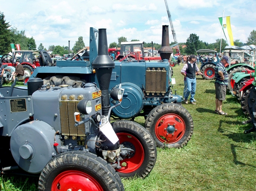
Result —
[[[115,63],[107,53],[106,29],[98,35],[99,54],[91,66],[98,84],[73,88],[30,78],[27,87],[15,87],[15,81],[0,88],[1,174],[38,175],[40,191],[124,191],[120,176],[151,172],[156,144],[150,133],[133,121],[110,124],[125,92],[121,85],[112,88],[110,106]]]

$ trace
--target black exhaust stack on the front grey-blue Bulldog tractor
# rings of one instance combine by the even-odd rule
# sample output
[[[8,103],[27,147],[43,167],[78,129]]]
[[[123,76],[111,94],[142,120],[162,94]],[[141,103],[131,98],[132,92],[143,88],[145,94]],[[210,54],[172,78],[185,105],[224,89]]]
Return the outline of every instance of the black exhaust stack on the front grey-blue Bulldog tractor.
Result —
[[[98,41],[98,56],[93,61],[92,67],[96,71],[97,80],[101,90],[102,115],[107,116],[110,108],[108,88],[112,70],[115,68],[115,63],[108,55],[106,28],[99,29]]]

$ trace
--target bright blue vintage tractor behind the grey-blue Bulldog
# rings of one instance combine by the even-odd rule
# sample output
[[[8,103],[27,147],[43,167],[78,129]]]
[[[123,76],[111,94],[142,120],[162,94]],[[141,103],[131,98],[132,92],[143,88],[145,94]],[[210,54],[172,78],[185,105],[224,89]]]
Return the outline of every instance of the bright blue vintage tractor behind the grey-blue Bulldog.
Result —
[[[45,85],[71,85],[73,88],[86,82],[95,82],[98,85],[99,81],[92,67],[95,58],[100,55],[98,49],[101,45],[97,45],[97,36],[98,31],[90,28],[89,60],[83,60],[77,54],[74,60],[58,60],[55,67],[37,67],[30,78],[42,78]],[[169,59],[173,51],[169,47],[168,25],[162,26],[162,47],[158,52],[162,58],[160,62],[126,59],[114,62],[115,68],[111,73],[108,93],[120,85],[124,88],[124,93],[122,103],[111,110],[111,116],[114,119],[144,116],[146,128],[150,129],[159,147],[180,148],[191,138],[193,121],[188,111],[181,106],[182,97],[172,93],[172,69]],[[113,106],[113,103],[110,98],[110,106]],[[165,110],[162,109],[163,106],[166,106]],[[158,112],[157,117],[152,110]],[[173,125],[176,125],[175,128]],[[167,128],[169,126],[170,128]]]

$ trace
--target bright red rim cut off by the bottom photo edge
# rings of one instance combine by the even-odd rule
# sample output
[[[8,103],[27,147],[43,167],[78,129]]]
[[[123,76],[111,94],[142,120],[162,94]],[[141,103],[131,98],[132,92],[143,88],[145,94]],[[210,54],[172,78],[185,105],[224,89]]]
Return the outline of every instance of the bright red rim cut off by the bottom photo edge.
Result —
[[[77,170],[62,172],[52,182],[51,191],[67,191],[68,189],[103,191],[103,188],[93,177]]]

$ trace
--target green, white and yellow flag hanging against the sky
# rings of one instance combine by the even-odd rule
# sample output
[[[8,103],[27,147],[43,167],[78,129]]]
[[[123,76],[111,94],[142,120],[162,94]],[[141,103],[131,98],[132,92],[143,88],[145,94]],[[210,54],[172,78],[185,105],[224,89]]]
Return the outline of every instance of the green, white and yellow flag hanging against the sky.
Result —
[[[220,25],[227,40],[228,46],[234,46],[233,34],[230,25],[230,16],[219,17]]]

